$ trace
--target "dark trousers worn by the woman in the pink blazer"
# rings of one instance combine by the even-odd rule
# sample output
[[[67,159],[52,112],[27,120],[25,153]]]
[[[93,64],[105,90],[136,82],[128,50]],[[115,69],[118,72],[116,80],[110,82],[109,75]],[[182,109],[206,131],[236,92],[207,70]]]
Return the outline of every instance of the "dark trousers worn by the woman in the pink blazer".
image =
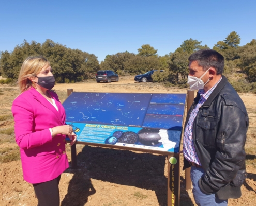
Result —
[[[59,206],[59,180],[61,175],[48,182],[33,184],[38,206]]]

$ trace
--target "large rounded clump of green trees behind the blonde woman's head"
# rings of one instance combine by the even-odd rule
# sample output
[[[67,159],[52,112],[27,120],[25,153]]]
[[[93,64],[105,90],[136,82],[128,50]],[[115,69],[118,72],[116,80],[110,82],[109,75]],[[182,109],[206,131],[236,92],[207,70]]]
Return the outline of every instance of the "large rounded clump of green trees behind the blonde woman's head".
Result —
[[[17,79],[23,61],[29,56],[37,55],[42,55],[50,61],[58,83],[82,81],[100,69],[98,58],[94,54],[67,48],[49,39],[42,44],[24,40],[13,52],[1,52],[1,75]]]

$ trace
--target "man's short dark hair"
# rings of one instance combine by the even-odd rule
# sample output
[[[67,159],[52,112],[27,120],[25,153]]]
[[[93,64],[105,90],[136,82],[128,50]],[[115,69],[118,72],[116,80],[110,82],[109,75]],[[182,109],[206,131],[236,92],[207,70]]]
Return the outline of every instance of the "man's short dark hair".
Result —
[[[214,67],[217,75],[222,74],[224,70],[224,57],[213,49],[201,49],[191,54],[188,60],[196,61],[199,66],[203,67],[203,71]]]

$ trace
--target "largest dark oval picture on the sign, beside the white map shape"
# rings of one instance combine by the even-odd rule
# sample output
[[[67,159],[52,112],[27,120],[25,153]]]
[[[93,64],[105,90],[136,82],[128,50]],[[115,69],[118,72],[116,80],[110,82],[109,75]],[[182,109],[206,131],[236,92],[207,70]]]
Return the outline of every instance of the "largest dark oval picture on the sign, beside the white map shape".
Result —
[[[161,136],[158,134],[159,129],[143,128],[138,132],[140,143],[147,146],[159,144]]]

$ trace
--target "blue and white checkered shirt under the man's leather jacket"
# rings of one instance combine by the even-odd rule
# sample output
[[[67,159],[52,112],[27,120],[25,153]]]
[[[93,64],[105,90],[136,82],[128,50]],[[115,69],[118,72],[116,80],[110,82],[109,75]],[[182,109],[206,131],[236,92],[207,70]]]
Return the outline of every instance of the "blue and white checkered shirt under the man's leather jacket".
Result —
[[[220,80],[221,79],[222,77],[220,78]],[[194,162],[195,164],[198,164],[198,165],[201,165],[201,163],[198,158],[197,152],[195,152],[194,143],[192,139],[194,119],[198,114],[199,108],[204,104],[204,102],[207,100],[210,94],[212,94],[212,92],[214,91],[214,89],[216,88],[220,80],[207,92],[204,92],[204,89],[198,90],[198,93],[200,94],[200,99],[198,101],[197,106],[190,113],[188,124],[184,130],[183,155],[189,162]]]

